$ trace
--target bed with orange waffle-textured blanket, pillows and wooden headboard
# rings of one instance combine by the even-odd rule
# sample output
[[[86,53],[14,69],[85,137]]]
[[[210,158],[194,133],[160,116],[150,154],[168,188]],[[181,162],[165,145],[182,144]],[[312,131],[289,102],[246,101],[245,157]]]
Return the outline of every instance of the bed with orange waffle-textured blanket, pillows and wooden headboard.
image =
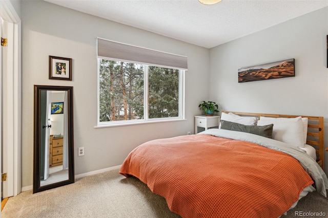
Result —
[[[279,217],[326,197],[323,149],[323,117],[222,112],[220,128],[139,145],[119,172],[182,217]]]

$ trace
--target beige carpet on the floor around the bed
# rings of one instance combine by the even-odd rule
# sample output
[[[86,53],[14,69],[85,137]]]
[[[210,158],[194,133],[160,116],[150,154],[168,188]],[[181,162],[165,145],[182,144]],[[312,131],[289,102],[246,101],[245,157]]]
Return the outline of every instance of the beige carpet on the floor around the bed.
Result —
[[[294,211],[323,211],[328,217],[328,201],[317,192],[309,193],[282,217],[295,217]],[[22,192],[8,200],[1,216],[179,217],[169,210],[164,198],[139,180],[119,175],[118,169],[35,194],[31,190]]]

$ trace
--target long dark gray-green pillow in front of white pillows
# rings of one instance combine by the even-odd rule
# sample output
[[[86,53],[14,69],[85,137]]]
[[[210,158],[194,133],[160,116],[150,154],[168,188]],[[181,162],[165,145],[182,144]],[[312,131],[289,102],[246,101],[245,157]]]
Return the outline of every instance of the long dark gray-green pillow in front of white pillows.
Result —
[[[251,133],[259,136],[264,136],[267,138],[272,138],[273,124],[265,126],[254,126],[254,125],[243,125],[239,123],[233,123],[226,120],[221,120],[221,128],[228,129],[238,132]]]

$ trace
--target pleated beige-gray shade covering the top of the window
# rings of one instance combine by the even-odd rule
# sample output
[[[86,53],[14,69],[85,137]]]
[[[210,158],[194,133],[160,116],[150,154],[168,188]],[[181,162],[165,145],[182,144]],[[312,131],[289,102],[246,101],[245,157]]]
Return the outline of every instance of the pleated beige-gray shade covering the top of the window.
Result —
[[[98,57],[188,70],[187,57],[97,38]]]

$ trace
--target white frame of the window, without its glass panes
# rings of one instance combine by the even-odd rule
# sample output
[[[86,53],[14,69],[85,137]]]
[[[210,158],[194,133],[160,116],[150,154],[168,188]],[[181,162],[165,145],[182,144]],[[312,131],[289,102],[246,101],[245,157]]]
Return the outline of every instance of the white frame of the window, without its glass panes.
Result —
[[[131,62],[144,65],[144,119],[139,120],[118,120],[118,121],[107,121],[107,122],[100,122],[100,60],[99,59],[106,59],[106,60],[114,60],[114,61],[124,61],[124,62]],[[157,123],[157,122],[172,122],[172,121],[180,121],[186,120],[185,119],[185,75],[186,71],[167,67],[167,66],[156,66],[161,68],[171,68],[179,70],[179,115],[177,117],[165,117],[165,118],[149,118],[148,115],[148,99],[149,99],[149,85],[148,85],[148,74],[149,74],[149,66],[155,66],[145,63],[138,63],[134,61],[127,61],[127,60],[119,60],[115,58],[107,58],[107,57],[97,57],[97,126],[99,127],[111,127],[111,126],[124,126],[124,125],[135,125],[135,124],[145,124],[145,123]]]

